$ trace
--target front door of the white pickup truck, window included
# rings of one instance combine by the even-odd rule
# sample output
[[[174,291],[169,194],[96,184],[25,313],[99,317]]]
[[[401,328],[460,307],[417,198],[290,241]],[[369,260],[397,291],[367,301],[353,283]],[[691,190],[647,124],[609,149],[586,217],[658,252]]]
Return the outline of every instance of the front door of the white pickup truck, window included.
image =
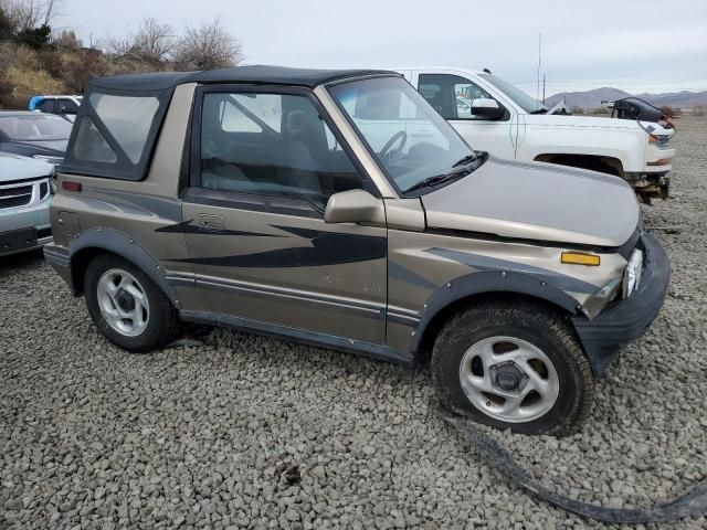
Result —
[[[506,110],[503,118],[489,120],[472,112],[474,99],[495,99],[488,92],[466,77],[452,74],[419,73],[415,82],[418,92],[474,149],[515,158],[515,113]],[[504,107],[497,99],[496,103]]]

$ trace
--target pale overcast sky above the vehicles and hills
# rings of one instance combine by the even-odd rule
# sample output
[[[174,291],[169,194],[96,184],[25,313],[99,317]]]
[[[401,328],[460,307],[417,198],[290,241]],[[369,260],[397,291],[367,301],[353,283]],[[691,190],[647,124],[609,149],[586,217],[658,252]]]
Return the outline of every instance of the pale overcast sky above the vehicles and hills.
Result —
[[[87,45],[144,17],[176,31],[219,17],[247,64],[487,67],[531,95],[613,86],[707,91],[707,0],[64,0]]]

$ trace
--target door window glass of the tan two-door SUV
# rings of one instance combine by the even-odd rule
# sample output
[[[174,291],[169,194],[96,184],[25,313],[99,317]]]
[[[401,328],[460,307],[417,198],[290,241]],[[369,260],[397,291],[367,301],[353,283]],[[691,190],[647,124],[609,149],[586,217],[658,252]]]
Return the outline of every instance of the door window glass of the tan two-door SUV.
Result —
[[[201,108],[200,184],[307,201],[363,188],[335,135],[304,96],[207,93]]]

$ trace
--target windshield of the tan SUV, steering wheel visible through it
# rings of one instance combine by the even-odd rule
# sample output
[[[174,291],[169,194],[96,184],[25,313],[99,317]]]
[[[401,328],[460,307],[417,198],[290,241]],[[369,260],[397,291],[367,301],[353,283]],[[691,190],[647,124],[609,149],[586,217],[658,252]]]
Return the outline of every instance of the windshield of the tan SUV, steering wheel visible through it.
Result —
[[[446,174],[474,155],[402,78],[354,81],[329,92],[400,190]]]

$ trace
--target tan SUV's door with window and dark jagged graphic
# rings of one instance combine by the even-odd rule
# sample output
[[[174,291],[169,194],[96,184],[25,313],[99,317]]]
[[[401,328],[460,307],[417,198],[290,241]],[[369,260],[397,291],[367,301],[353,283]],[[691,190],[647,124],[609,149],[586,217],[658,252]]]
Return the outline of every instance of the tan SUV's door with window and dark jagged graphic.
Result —
[[[336,192],[373,191],[307,91],[197,93],[183,220],[208,311],[384,342],[387,231],[327,224]]]

